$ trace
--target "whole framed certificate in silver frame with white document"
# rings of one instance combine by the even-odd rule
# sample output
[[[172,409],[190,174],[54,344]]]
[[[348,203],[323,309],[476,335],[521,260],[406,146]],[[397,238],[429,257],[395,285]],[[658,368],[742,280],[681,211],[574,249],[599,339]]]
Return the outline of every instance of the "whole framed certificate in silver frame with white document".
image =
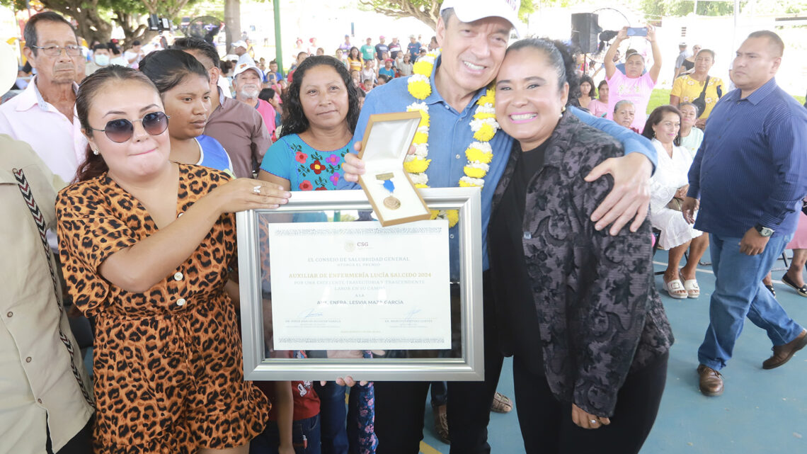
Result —
[[[478,188],[421,191],[435,219],[383,227],[363,191],[236,215],[246,380],[482,380]]]

